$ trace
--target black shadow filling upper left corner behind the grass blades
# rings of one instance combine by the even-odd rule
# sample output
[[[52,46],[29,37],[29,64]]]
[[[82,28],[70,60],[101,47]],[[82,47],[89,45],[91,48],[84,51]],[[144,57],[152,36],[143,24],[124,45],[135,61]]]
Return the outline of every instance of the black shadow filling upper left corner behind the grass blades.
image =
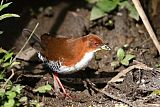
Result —
[[[12,48],[16,39],[21,35],[22,29],[25,28],[30,22],[30,20],[33,18],[30,11],[33,10],[35,14],[38,15],[38,9],[40,7],[54,5],[55,2],[56,0],[14,1],[13,4],[9,6],[9,8],[6,8],[3,11],[3,13],[15,13],[20,15],[20,18],[9,18],[1,21],[0,30],[4,33],[0,37],[0,46],[5,49]]]

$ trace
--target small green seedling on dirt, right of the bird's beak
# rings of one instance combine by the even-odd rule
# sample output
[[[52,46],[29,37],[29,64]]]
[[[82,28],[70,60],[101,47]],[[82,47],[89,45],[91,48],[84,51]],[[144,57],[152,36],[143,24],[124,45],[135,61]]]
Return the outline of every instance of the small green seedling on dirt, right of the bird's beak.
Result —
[[[120,64],[124,66],[128,66],[129,61],[135,58],[135,55],[127,54],[123,48],[119,48],[117,51],[117,58],[118,58],[118,61],[113,61],[111,63],[111,66],[114,68],[120,66]]]

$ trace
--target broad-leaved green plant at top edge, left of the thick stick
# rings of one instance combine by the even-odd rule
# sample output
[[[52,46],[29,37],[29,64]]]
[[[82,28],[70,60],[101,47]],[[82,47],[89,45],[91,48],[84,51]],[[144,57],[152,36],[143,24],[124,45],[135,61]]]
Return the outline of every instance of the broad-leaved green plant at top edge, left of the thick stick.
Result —
[[[91,4],[95,4],[91,10],[90,20],[96,20],[106,16],[116,8],[126,8],[129,16],[135,20],[139,20],[138,12],[128,0],[87,0]]]

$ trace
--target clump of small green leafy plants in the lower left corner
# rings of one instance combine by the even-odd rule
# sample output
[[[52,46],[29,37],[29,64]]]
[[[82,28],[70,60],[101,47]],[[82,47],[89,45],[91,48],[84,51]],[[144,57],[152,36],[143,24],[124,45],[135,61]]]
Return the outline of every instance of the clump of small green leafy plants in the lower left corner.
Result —
[[[19,64],[13,61],[13,52],[0,48],[0,106],[14,107],[21,104],[21,90],[24,86],[13,84],[10,79],[14,75],[13,66]],[[6,71],[12,71],[12,75],[7,79]]]

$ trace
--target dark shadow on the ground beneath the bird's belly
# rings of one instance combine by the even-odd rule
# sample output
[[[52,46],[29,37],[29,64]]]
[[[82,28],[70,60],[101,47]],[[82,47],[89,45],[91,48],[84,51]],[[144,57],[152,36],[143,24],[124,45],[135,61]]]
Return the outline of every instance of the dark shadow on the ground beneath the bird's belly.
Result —
[[[117,72],[101,72],[96,74],[97,70],[86,68],[86,70],[81,70],[73,74],[59,75],[62,83],[76,91],[83,91],[84,87],[83,81],[89,79],[92,83],[96,84],[97,88],[104,88],[107,82],[117,75]]]

